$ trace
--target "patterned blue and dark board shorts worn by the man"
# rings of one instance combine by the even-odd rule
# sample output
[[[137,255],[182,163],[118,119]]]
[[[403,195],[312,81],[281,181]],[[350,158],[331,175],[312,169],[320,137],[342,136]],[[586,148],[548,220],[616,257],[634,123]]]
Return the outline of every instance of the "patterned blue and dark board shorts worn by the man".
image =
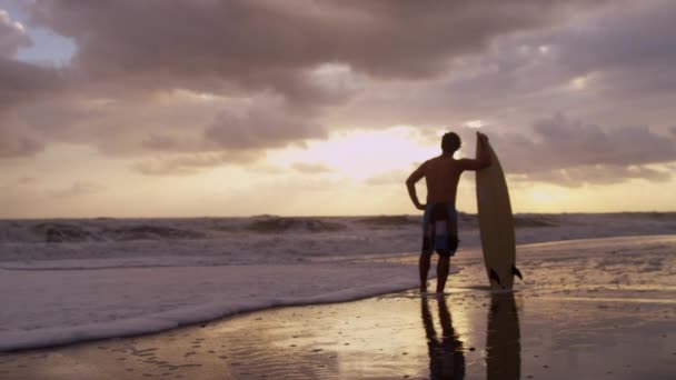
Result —
[[[450,203],[428,203],[422,217],[422,254],[451,257],[458,249],[458,213]]]

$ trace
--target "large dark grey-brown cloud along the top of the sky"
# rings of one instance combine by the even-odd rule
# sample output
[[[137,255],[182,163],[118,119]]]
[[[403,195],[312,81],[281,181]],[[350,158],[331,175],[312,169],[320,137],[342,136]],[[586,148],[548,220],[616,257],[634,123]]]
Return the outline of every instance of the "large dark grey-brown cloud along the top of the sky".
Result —
[[[308,79],[321,64],[426,78],[496,36],[561,21],[565,10],[595,3],[39,0],[28,8],[34,24],[76,41],[74,66],[91,77],[145,78],[160,88],[232,82],[304,103],[336,99]]]

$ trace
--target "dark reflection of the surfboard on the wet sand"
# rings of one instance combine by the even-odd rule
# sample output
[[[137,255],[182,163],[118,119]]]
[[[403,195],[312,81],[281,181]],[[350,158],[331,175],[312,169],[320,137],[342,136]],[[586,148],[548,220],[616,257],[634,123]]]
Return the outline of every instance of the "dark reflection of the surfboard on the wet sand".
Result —
[[[514,293],[491,293],[486,339],[486,379],[519,379],[521,343]]]

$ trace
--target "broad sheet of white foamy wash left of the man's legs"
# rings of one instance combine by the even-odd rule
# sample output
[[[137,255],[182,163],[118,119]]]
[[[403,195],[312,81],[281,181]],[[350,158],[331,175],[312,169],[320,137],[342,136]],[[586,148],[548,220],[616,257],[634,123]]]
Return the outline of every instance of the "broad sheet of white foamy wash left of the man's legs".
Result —
[[[0,271],[0,350],[166,330],[243,311],[412,288],[404,264]]]

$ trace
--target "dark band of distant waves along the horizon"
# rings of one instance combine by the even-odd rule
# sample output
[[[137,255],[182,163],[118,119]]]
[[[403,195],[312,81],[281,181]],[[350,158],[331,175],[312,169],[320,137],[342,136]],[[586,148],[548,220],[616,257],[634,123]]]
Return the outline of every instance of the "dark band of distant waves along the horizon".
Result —
[[[182,219],[43,219],[0,220],[0,243],[81,243],[115,241],[190,241],[241,239],[243,234],[260,237],[374,236],[391,231],[392,236],[417,233],[420,214],[372,217],[279,217],[250,218],[182,218]],[[474,213],[458,213],[460,232],[476,231]],[[531,229],[575,229],[575,236],[614,236],[676,232],[676,212],[617,213],[517,213],[517,234]],[[545,229],[543,229],[545,228]],[[547,230],[549,230],[547,229]],[[653,232],[653,230],[655,232]],[[369,232],[374,231],[374,232]],[[602,231],[609,231],[602,233]],[[619,231],[619,232],[613,232]],[[309,233],[306,233],[309,232]],[[566,239],[565,236],[561,238]]]

